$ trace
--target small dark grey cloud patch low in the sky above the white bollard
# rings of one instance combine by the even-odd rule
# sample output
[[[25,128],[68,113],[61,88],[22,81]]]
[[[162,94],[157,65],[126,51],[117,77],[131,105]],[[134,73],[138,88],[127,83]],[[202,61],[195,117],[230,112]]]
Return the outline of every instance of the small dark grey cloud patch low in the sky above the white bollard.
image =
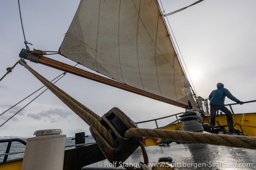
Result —
[[[27,117],[36,119],[36,120],[42,120],[44,119],[50,119],[51,123],[58,122],[57,120],[65,119],[72,113],[58,108],[50,108],[47,111],[42,111],[40,113],[29,113],[27,114]]]

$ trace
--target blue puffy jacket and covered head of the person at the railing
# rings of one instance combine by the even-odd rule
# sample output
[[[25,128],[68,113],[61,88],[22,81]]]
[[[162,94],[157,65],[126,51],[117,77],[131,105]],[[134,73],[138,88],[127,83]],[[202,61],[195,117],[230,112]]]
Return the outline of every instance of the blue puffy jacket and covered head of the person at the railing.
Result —
[[[219,84],[219,83],[218,83]],[[217,90],[214,90],[210,93],[209,100],[210,105],[224,105],[225,97],[228,97],[230,100],[238,102],[239,100],[235,98],[228,89],[224,88],[224,84],[220,83],[217,86]]]

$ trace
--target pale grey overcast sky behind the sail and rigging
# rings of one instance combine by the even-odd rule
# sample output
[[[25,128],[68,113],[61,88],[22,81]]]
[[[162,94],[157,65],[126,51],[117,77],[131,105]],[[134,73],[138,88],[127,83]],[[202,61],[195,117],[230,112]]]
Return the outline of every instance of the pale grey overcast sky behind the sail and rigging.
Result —
[[[188,6],[196,0],[162,0],[166,13]],[[79,0],[20,0],[23,26],[30,49],[58,51],[79,4]],[[255,0],[204,0],[168,18],[197,95],[207,98],[224,83],[233,96],[241,101],[256,100],[255,94]],[[0,1],[0,77],[19,60],[18,54],[25,48],[18,11],[18,0]],[[54,59],[75,65],[62,56]],[[62,74],[44,65],[27,61],[33,69],[48,80]],[[86,68],[79,66],[79,68]],[[156,100],[102,85],[100,83],[66,74],[56,85],[102,116],[118,107],[133,121],[139,122],[183,112]],[[23,66],[0,82],[0,113],[36,91],[43,84]],[[42,92],[42,89],[40,92]],[[38,95],[38,92],[36,95]],[[31,96],[14,109],[0,116],[0,125],[36,95]],[[233,101],[226,99],[226,104]],[[234,112],[254,112],[254,106],[245,104],[234,107]],[[164,126],[172,121],[159,121]],[[33,136],[40,129],[62,129],[63,134],[74,136],[85,131],[88,125],[64,105],[50,91],[46,91],[5,125],[1,135]],[[139,124],[139,127],[155,128],[155,124]]]

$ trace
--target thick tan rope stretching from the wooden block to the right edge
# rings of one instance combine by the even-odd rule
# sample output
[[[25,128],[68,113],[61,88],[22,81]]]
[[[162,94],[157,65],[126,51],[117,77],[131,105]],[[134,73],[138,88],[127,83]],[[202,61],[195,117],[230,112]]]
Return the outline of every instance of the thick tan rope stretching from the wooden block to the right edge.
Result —
[[[132,128],[125,132],[126,138],[143,136],[194,142],[198,144],[214,144],[229,147],[256,149],[256,137],[240,135],[219,135],[191,131],[171,131],[159,129]]]

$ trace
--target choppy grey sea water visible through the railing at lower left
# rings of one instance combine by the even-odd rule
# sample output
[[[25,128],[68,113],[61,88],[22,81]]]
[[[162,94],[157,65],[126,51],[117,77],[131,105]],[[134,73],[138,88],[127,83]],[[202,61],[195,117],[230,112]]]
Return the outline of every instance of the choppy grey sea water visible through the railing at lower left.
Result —
[[[22,139],[22,140],[27,142],[26,139]],[[94,142],[95,142],[94,139],[85,138],[85,143],[86,144],[94,143]],[[0,155],[5,154],[7,145],[8,145],[8,142],[0,143]],[[75,145],[75,140],[72,140],[72,138],[66,138],[65,146],[71,146],[71,147],[65,147],[65,150],[75,148],[75,146],[72,146],[72,145]],[[23,158],[24,157],[24,152],[25,152],[25,147],[26,146],[24,144],[21,144],[20,142],[16,142],[16,141],[12,142],[9,153],[18,153],[18,152],[23,152],[23,153],[11,154],[11,155],[8,156],[7,160],[9,161],[9,160],[12,160],[12,159]],[[4,155],[0,156],[0,162],[2,162],[4,160],[4,157],[5,157]]]

